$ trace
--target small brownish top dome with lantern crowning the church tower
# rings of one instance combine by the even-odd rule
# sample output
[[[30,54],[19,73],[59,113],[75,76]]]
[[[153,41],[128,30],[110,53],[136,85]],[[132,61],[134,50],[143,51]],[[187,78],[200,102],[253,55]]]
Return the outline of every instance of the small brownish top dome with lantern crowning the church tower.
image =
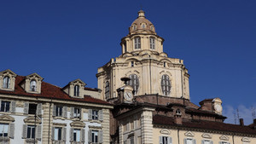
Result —
[[[134,20],[129,27],[130,34],[140,33],[140,32],[147,32],[147,33],[154,33],[155,29],[154,25],[145,17],[145,12],[140,10],[138,13],[138,17]]]

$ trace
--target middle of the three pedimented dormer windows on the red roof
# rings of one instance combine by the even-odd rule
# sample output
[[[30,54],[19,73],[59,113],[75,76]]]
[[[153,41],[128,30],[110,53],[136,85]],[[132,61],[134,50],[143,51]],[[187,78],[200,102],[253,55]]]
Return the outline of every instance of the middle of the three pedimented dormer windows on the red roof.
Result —
[[[20,86],[26,90],[27,93],[41,93],[41,84],[44,78],[38,75],[38,73],[32,73],[26,76],[26,80],[20,84]]]

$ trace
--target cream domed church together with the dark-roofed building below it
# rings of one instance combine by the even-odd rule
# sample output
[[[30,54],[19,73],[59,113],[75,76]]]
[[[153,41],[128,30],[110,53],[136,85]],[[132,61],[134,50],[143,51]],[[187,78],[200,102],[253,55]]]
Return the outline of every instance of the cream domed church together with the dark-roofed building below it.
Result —
[[[164,39],[144,12],[121,39],[122,54],[98,68],[102,100],[113,103],[112,143],[254,144],[255,124],[224,124],[222,101],[189,100],[189,73],[183,60],[163,51]],[[254,121],[255,123],[255,121]]]

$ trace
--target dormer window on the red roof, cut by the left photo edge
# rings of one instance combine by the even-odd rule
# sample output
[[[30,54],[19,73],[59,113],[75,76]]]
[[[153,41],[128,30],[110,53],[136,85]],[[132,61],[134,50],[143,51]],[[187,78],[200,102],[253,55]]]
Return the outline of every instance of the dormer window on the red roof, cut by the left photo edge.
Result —
[[[17,74],[11,70],[0,72],[0,89],[15,90],[15,77]]]

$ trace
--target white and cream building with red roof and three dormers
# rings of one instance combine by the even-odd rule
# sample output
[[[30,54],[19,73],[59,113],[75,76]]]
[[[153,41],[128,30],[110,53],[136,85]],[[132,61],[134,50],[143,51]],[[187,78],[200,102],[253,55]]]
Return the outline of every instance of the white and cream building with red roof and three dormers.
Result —
[[[113,106],[84,86],[80,79],[60,88],[37,73],[0,72],[0,143],[109,143]]]

